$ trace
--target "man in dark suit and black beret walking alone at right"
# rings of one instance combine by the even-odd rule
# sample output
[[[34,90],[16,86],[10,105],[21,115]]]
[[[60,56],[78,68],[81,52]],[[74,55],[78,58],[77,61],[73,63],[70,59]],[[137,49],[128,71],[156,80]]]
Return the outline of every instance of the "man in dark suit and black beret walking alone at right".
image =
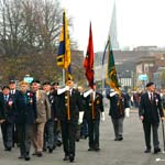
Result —
[[[146,92],[141,96],[139,114],[140,119],[143,123],[144,138],[146,150],[144,153],[151,152],[151,128],[153,130],[153,145],[154,153],[161,152],[160,142],[158,142],[158,124],[160,124],[160,116],[162,120],[164,120],[164,113],[161,102],[161,97],[157,92],[155,92],[154,82],[146,84]]]

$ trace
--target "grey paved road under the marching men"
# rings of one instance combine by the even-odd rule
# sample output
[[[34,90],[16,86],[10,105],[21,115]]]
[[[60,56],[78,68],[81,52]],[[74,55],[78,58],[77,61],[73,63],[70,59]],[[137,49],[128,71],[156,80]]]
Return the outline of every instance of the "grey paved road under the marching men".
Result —
[[[63,147],[57,147],[52,154],[44,153],[43,157],[31,156],[30,162],[18,160],[19,148],[3,151],[0,138],[0,165],[164,165],[165,154],[144,153],[144,134],[139,120],[138,109],[131,109],[130,118],[124,119],[123,141],[113,141],[111,119],[106,109],[106,121],[100,123],[100,152],[88,151],[88,140],[76,142],[76,160],[74,163],[64,162]],[[160,143],[163,148],[162,128],[160,127]],[[33,152],[33,147],[31,148]]]

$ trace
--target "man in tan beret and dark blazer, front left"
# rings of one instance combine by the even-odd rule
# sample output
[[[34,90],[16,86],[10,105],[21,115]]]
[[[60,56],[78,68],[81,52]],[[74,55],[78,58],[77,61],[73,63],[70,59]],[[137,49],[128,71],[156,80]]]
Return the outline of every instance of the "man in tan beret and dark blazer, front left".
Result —
[[[20,140],[20,156],[30,161],[30,148],[32,141],[32,129],[36,120],[36,97],[35,94],[28,90],[29,84],[20,82],[20,92],[15,98],[16,105],[16,125]]]

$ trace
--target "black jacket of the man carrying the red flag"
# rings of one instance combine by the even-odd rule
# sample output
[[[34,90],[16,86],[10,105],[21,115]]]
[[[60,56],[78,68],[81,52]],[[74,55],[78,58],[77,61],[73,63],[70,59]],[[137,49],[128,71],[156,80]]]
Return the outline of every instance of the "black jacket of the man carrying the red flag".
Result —
[[[98,91],[96,91],[96,97],[94,100],[94,119],[100,120],[100,112],[103,112],[103,102],[102,102],[102,95]],[[86,111],[85,117],[87,120],[92,120],[92,100],[91,95],[88,95],[86,98]]]

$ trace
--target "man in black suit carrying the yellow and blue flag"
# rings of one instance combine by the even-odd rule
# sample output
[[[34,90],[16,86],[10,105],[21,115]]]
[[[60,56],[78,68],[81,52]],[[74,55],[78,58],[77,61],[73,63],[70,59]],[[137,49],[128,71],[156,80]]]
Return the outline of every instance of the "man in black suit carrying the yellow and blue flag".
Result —
[[[68,78],[66,87],[57,89],[57,118],[62,128],[64,161],[74,162],[78,117],[79,111],[82,111],[81,98],[78,90],[74,88],[73,78]]]

